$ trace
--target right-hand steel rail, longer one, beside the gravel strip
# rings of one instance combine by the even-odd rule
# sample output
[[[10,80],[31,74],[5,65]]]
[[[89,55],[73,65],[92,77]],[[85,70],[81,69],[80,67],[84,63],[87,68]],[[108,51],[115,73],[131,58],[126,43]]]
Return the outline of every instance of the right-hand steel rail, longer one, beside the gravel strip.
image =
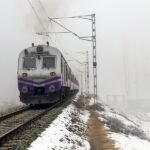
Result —
[[[13,136],[15,136],[16,134],[20,133],[23,129],[25,129],[28,125],[34,123],[36,120],[38,120],[39,118],[41,118],[43,115],[45,115],[48,111],[52,110],[55,106],[57,106],[58,104],[60,104],[60,102],[57,102],[56,104],[54,104],[53,106],[49,107],[48,109],[46,109],[45,111],[33,116],[32,118],[28,119],[27,121],[25,121],[24,123],[18,125],[17,127],[11,129],[10,131],[8,131],[7,133],[4,133],[3,135],[0,136],[0,147],[6,143],[10,138],[12,138]]]

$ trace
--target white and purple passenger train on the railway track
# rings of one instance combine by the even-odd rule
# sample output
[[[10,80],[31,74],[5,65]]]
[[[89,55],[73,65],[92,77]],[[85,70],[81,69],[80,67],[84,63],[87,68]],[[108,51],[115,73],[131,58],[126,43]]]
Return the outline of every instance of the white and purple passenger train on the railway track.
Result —
[[[22,50],[18,57],[18,90],[26,105],[52,104],[74,95],[79,82],[61,51],[47,42]]]

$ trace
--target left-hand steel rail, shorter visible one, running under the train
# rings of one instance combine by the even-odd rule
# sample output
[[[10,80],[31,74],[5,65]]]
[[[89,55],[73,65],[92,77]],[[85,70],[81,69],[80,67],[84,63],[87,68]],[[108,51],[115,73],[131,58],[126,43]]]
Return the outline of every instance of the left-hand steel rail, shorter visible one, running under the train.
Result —
[[[8,119],[8,118],[13,117],[15,115],[18,115],[19,113],[22,113],[22,112],[24,112],[24,111],[26,111],[28,109],[29,109],[29,106],[23,107],[23,108],[21,108],[21,109],[19,109],[17,111],[14,111],[14,112],[8,113],[6,115],[0,116],[0,121],[3,121],[5,119]]]

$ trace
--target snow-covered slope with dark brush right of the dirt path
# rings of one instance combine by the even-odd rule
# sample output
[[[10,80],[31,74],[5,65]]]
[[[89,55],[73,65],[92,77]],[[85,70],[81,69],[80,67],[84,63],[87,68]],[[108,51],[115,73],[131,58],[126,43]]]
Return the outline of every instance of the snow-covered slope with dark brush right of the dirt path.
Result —
[[[108,137],[114,140],[119,150],[150,149],[150,113],[125,113],[105,104],[101,106],[104,111],[97,111],[99,119],[105,123]]]

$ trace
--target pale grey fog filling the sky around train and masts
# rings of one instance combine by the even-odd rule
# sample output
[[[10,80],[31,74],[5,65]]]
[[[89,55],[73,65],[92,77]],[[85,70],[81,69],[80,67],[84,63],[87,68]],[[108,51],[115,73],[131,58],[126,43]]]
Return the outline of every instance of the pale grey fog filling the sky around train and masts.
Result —
[[[42,31],[61,31],[50,23],[49,17],[96,14],[98,96],[111,106],[121,109],[146,110],[150,108],[150,2],[148,0],[38,0],[31,1],[39,19],[27,0],[1,0],[0,5],[0,101],[17,104],[17,61],[19,52],[48,40],[50,45],[85,61],[77,54],[88,50],[92,73],[91,43],[73,35],[36,35]],[[43,9],[44,8],[44,9]],[[39,22],[39,20],[42,22]],[[61,21],[79,35],[91,34],[90,22]],[[43,27],[44,26],[44,27]],[[44,28],[44,29],[43,29]],[[76,62],[69,62],[79,76]],[[90,73],[90,75],[91,75]],[[92,76],[90,77],[90,81]],[[92,92],[92,83],[90,91]]]

